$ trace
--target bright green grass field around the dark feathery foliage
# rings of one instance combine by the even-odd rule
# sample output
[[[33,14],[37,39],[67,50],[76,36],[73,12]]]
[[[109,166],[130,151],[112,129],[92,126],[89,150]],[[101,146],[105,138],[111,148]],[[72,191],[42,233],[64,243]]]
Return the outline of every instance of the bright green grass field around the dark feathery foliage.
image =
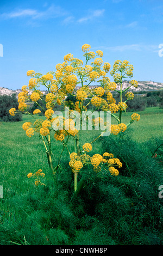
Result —
[[[130,121],[131,114],[131,112],[124,113],[122,123],[128,123]],[[159,107],[147,108],[145,111],[139,112],[139,114],[141,119],[137,122],[135,121],[130,126],[128,135],[135,142],[140,144],[147,142],[151,138],[162,137],[163,109],[160,109]],[[18,228],[18,224],[23,227],[22,218],[24,218],[24,222],[27,218],[28,223],[29,216],[31,217],[31,214],[33,214],[34,218],[34,212],[37,211],[37,208],[27,204],[27,200],[25,198],[28,197],[29,199],[29,196],[32,195],[33,197],[38,197],[38,194],[39,197],[40,195],[44,197],[45,193],[45,188],[36,187],[34,182],[27,178],[27,174],[29,172],[34,173],[36,170],[41,168],[45,173],[45,183],[47,180],[49,181],[49,184],[52,183],[52,174],[49,172],[47,157],[42,140],[38,138],[37,134],[32,138],[26,136],[26,132],[22,129],[22,124],[25,121],[32,121],[32,117],[29,115],[23,115],[22,121],[15,123],[0,123],[0,185],[3,186],[3,198],[0,198],[0,225],[3,224],[3,228],[0,230],[2,232],[0,232],[2,234],[0,236],[0,245],[11,245],[14,243],[21,245],[43,243],[42,240],[40,240],[40,242],[39,240],[35,240],[35,235],[33,235],[31,241],[29,241],[30,239],[27,237],[30,237],[31,234],[26,234],[27,227],[23,228],[23,231],[20,231]],[[83,131],[82,143],[91,142],[95,137],[95,134],[91,131]],[[52,139],[52,145],[54,162],[57,163],[62,150],[62,145],[60,142],[54,141],[54,139]],[[72,152],[73,140],[71,140],[68,147]],[[93,143],[92,147],[92,154],[102,152],[101,144],[98,142]],[[68,163],[69,157],[67,156],[67,151],[65,149],[61,162],[64,164],[66,161]],[[41,204],[41,198],[37,198],[36,200]],[[45,201],[43,202],[45,203]],[[32,222],[32,217],[30,221]],[[42,228],[40,228],[40,226],[37,227],[37,224],[33,228],[35,230],[33,232],[39,235],[39,230],[42,230]],[[43,230],[46,233],[47,227],[44,227]],[[11,236],[9,235],[10,231]],[[7,237],[10,237],[10,239]],[[66,244],[67,241],[68,240],[66,240],[66,238],[62,238],[60,243]],[[48,241],[46,242],[48,244]],[[58,244],[59,242],[56,240],[49,243]]]

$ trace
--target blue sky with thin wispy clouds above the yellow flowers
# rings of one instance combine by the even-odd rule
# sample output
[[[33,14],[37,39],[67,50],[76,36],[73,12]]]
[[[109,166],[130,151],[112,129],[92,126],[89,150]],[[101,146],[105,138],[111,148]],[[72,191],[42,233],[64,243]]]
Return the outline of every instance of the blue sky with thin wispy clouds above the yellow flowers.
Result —
[[[162,0],[1,0],[0,24],[0,87],[28,85],[28,70],[55,71],[67,53],[84,60],[83,44],[111,67],[129,60],[137,81],[163,82]]]

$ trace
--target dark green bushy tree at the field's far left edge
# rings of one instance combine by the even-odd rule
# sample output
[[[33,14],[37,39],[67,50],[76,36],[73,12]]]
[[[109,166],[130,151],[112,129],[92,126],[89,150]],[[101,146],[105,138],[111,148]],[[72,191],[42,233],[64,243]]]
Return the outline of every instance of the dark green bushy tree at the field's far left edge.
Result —
[[[14,121],[21,121],[22,114],[16,114],[11,116],[9,113],[10,108],[18,109],[18,102],[16,98],[16,94],[12,94],[11,96],[8,95],[0,95],[0,120],[5,122],[14,122]]]

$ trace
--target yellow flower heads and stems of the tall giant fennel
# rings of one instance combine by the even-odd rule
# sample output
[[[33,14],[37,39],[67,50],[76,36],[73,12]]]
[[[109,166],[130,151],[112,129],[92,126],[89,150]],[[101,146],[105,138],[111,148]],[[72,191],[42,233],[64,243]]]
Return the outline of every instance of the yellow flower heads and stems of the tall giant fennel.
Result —
[[[15,108],[10,109],[10,114],[28,112],[27,100],[36,102],[38,106],[39,100],[45,104],[45,107],[40,106],[43,113],[45,113],[45,120],[39,118],[40,109],[35,109],[32,115],[34,122],[26,122],[22,125],[26,135],[32,137],[34,133],[42,138],[43,145],[45,146],[49,168],[54,175],[55,184],[57,184],[57,172],[60,168],[61,155],[66,149],[69,156],[69,165],[74,173],[74,193],[78,194],[83,187],[83,184],[78,184],[78,173],[81,172],[85,166],[91,166],[97,175],[105,170],[110,172],[111,175],[118,175],[119,168],[122,163],[119,159],[115,158],[113,154],[105,152],[103,155],[98,153],[92,157],[89,152],[92,150],[93,142],[100,136],[106,136],[107,132],[113,135],[120,135],[126,131],[127,127],[133,123],[134,120],[138,121],[140,115],[133,113],[128,124],[122,123],[122,113],[127,109],[127,101],[134,98],[132,92],[127,92],[131,87],[137,87],[137,81],[131,80],[128,88],[122,88],[122,81],[124,78],[133,77],[133,65],[127,60],[116,60],[112,70],[111,76],[114,82],[110,81],[107,76],[110,70],[110,63],[103,63],[103,52],[97,50],[96,53],[90,51],[91,46],[84,44],[82,51],[84,52],[85,63],[83,60],[75,58],[73,54],[68,53],[64,56],[64,62],[55,66],[56,71],[48,72],[42,75],[34,70],[27,71],[27,76],[30,76],[28,86],[22,87],[22,92],[18,94],[18,112]],[[89,63],[90,62],[90,63]],[[90,86],[92,82],[98,82],[99,86],[93,88]],[[46,97],[43,97],[40,86],[45,86],[47,90]],[[77,87],[78,86],[78,87]],[[120,89],[117,89],[117,86]],[[78,88],[78,89],[77,89]],[[120,102],[116,101],[112,95],[112,91],[120,94]],[[122,101],[122,94],[126,93],[126,101]],[[76,102],[66,101],[67,94],[76,96]],[[86,103],[85,103],[86,102]],[[89,103],[87,103],[89,102]],[[87,111],[88,105],[93,105],[93,110]],[[66,114],[55,114],[55,106],[61,105],[66,109]],[[90,116],[95,111],[103,111],[110,113],[111,117],[115,118],[117,124],[111,124],[101,117],[96,117],[90,122]],[[78,123],[78,125],[77,125]],[[101,132],[96,139],[92,142],[86,141],[81,145],[80,130],[84,126],[91,129],[99,129]],[[88,125],[88,126],[86,126]],[[79,129],[80,128],[80,129]],[[90,130],[91,130],[90,129]],[[54,166],[53,152],[52,152],[52,136],[58,143],[62,143],[62,151],[58,159],[58,163]],[[68,149],[69,139],[74,139],[74,150],[70,152]],[[35,178],[35,185],[45,185],[41,182],[41,177],[45,173],[41,169],[36,173],[28,173],[28,178]],[[80,180],[82,182],[82,180]],[[81,183],[80,182],[80,183]]]

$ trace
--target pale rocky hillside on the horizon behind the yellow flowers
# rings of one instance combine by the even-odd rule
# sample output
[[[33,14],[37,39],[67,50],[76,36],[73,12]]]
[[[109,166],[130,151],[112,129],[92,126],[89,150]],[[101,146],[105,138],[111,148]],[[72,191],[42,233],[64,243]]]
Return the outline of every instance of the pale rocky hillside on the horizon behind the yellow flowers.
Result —
[[[96,88],[99,85],[93,85],[93,86],[89,86],[90,89],[92,88]],[[128,88],[129,86],[129,81],[123,81],[123,89]],[[80,87],[77,86],[76,89],[79,89]],[[117,86],[117,90],[120,89],[119,86]],[[153,82],[153,81],[138,81],[138,86],[137,88],[135,87],[131,87],[129,90],[130,92],[135,92],[135,93],[143,93],[143,92],[149,92],[149,91],[155,91],[155,90],[161,90],[163,89],[163,83],[159,83],[159,82]],[[18,95],[20,92],[22,92],[21,89],[17,89],[17,90],[11,90],[8,88],[4,88],[4,87],[0,87],[0,95],[12,95],[12,94],[16,94]],[[47,94],[47,90],[42,90],[41,91],[43,94]]]

